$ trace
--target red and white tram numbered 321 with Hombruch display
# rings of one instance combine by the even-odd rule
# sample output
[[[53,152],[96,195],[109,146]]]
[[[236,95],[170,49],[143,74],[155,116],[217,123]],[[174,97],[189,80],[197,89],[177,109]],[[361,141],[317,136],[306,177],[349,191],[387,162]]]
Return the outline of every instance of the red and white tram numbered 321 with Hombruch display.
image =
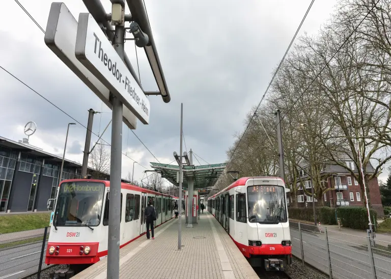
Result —
[[[110,182],[64,180],[55,202],[46,264],[93,264],[107,257]],[[121,184],[120,247],[146,234],[148,200],[156,209],[155,227],[172,219],[178,197]]]

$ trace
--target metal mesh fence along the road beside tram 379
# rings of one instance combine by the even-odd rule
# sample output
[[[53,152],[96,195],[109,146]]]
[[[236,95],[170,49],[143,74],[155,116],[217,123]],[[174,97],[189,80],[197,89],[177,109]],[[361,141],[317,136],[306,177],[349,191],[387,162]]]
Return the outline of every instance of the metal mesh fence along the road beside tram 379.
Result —
[[[290,222],[293,256],[325,278],[391,279],[391,242]]]

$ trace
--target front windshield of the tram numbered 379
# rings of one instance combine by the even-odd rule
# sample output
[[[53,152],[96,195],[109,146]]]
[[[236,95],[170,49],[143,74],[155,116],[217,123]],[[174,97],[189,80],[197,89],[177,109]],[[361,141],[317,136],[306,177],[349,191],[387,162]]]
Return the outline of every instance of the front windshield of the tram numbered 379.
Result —
[[[247,199],[249,222],[287,222],[283,186],[249,186],[247,187]]]

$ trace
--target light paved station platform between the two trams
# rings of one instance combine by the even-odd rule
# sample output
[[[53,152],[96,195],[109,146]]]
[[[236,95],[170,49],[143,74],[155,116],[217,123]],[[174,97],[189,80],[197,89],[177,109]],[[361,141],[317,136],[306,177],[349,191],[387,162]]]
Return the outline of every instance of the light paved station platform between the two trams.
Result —
[[[205,279],[259,278],[230,236],[206,210],[199,223],[186,228],[182,216],[182,249],[178,250],[178,219],[120,249],[120,278]],[[106,278],[107,260],[76,274],[76,279]]]

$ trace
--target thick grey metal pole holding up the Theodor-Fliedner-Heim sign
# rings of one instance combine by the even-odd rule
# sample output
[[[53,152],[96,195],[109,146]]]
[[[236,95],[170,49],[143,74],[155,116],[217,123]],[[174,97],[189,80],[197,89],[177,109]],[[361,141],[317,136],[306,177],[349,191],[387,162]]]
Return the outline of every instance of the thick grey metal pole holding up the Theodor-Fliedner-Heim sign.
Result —
[[[124,59],[124,36],[124,26],[117,24],[114,36],[114,48],[122,60]],[[108,206],[107,279],[119,279],[120,277],[122,116],[122,103],[118,97],[113,96],[110,195]]]

